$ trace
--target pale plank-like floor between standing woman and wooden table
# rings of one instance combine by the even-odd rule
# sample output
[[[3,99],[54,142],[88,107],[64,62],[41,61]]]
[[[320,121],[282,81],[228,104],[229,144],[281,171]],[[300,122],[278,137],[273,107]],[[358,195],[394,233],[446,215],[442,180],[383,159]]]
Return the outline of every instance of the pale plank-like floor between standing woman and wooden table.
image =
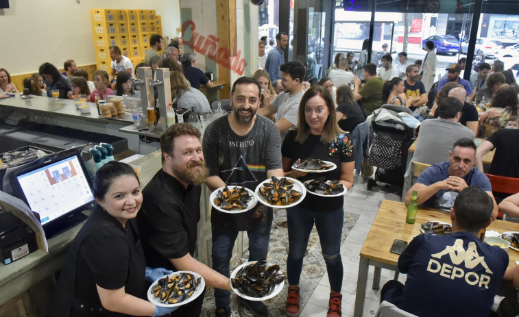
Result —
[[[382,201],[384,199],[400,201],[400,195],[394,192],[396,192],[395,188],[380,187],[372,188],[372,190],[368,191],[365,180],[360,176],[356,176],[352,190],[345,196],[344,211],[359,214],[360,216],[341,246],[344,267],[341,290],[342,316],[353,316],[355,294],[357,291],[357,274],[359,272],[359,253]],[[371,278],[367,281],[363,316],[370,317],[374,316],[378,309],[380,290],[372,290],[371,288],[373,283],[372,266],[370,266],[368,276]],[[383,269],[381,274],[381,286],[383,286],[386,281],[393,279],[393,277],[393,271]],[[399,280],[403,282],[405,278],[405,275],[400,275]],[[313,291],[309,301],[302,308],[300,316],[326,316],[329,294],[330,283],[328,282],[328,275],[325,273],[319,285]]]

